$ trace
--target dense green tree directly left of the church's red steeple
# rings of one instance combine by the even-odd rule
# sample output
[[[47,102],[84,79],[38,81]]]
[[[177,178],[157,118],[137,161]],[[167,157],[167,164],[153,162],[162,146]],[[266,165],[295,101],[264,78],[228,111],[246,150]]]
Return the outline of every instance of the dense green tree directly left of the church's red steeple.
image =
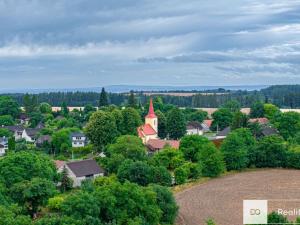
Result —
[[[127,107],[122,110],[123,115],[123,134],[137,134],[137,128],[142,124],[141,116],[134,108]]]

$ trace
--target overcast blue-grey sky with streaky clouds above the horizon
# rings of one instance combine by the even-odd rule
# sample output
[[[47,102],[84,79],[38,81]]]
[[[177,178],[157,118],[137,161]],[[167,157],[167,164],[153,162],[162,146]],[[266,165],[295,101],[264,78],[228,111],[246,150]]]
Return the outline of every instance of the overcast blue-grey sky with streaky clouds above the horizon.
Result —
[[[0,89],[300,83],[300,0],[0,0]]]

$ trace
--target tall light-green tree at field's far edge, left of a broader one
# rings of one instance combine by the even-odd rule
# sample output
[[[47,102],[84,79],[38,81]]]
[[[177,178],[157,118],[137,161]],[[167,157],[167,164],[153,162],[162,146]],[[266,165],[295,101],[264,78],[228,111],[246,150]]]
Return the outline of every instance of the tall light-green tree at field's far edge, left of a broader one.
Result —
[[[249,129],[240,128],[231,132],[221,145],[228,170],[241,170],[249,163],[249,151],[254,148],[255,139]]]

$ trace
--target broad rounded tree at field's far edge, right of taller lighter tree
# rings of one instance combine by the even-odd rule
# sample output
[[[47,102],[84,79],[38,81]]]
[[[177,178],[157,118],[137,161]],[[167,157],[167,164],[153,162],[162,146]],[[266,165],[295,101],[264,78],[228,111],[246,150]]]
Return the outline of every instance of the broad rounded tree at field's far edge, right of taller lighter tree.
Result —
[[[282,137],[271,135],[259,140],[250,152],[251,164],[256,167],[283,167],[286,165],[287,149]]]

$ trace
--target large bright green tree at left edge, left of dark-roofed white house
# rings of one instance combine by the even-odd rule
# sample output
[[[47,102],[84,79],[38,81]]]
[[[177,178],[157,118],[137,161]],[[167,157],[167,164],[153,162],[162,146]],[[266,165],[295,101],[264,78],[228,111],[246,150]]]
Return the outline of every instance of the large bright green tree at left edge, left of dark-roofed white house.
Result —
[[[53,161],[37,152],[21,151],[9,154],[0,160],[0,179],[7,187],[33,177],[55,180],[57,177]]]

